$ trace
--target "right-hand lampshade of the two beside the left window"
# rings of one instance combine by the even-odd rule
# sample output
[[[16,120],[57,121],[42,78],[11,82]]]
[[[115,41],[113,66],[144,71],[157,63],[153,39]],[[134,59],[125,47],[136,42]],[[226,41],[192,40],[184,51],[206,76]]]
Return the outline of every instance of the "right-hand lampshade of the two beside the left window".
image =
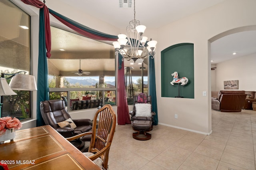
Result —
[[[12,77],[9,86],[12,90],[37,90],[35,77],[29,74],[16,74]]]

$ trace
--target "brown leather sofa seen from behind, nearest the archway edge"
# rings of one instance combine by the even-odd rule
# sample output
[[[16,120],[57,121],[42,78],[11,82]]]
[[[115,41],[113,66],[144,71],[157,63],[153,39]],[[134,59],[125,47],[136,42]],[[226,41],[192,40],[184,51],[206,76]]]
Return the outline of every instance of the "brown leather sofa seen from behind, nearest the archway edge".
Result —
[[[246,96],[243,90],[220,90],[217,98],[212,98],[212,109],[224,112],[240,112]]]

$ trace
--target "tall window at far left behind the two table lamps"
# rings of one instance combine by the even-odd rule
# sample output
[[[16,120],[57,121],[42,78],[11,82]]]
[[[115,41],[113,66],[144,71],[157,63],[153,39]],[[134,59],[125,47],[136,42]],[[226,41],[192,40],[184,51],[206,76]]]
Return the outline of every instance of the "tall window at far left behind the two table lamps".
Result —
[[[30,74],[30,16],[9,0],[1,0],[0,23],[0,72],[26,71],[26,74]],[[14,92],[17,95],[2,96],[0,116],[12,116],[20,120],[31,118],[30,92]]]

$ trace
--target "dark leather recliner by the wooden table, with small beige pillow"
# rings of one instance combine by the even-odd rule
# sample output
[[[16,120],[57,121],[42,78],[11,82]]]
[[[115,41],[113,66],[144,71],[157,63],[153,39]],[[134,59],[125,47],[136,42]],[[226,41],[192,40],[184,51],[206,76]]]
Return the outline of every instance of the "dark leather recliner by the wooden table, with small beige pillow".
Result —
[[[40,102],[40,111],[46,125],[52,126],[63,137],[73,137],[75,135],[92,130],[90,119],[74,119],[72,120],[76,128],[60,127],[58,123],[71,118],[68,111],[65,109],[63,100],[48,100]]]

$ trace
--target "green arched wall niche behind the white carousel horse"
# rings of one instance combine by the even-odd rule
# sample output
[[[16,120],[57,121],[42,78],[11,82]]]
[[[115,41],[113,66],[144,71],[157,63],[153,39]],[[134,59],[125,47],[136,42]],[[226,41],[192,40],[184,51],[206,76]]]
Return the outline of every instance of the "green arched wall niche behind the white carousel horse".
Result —
[[[173,80],[171,74],[175,71],[179,78],[188,78],[188,84],[170,84]],[[180,43],[161,51],[161,87],[162,97],[175,98],[180,88],[180,96],[194,98],[194,44]]]

